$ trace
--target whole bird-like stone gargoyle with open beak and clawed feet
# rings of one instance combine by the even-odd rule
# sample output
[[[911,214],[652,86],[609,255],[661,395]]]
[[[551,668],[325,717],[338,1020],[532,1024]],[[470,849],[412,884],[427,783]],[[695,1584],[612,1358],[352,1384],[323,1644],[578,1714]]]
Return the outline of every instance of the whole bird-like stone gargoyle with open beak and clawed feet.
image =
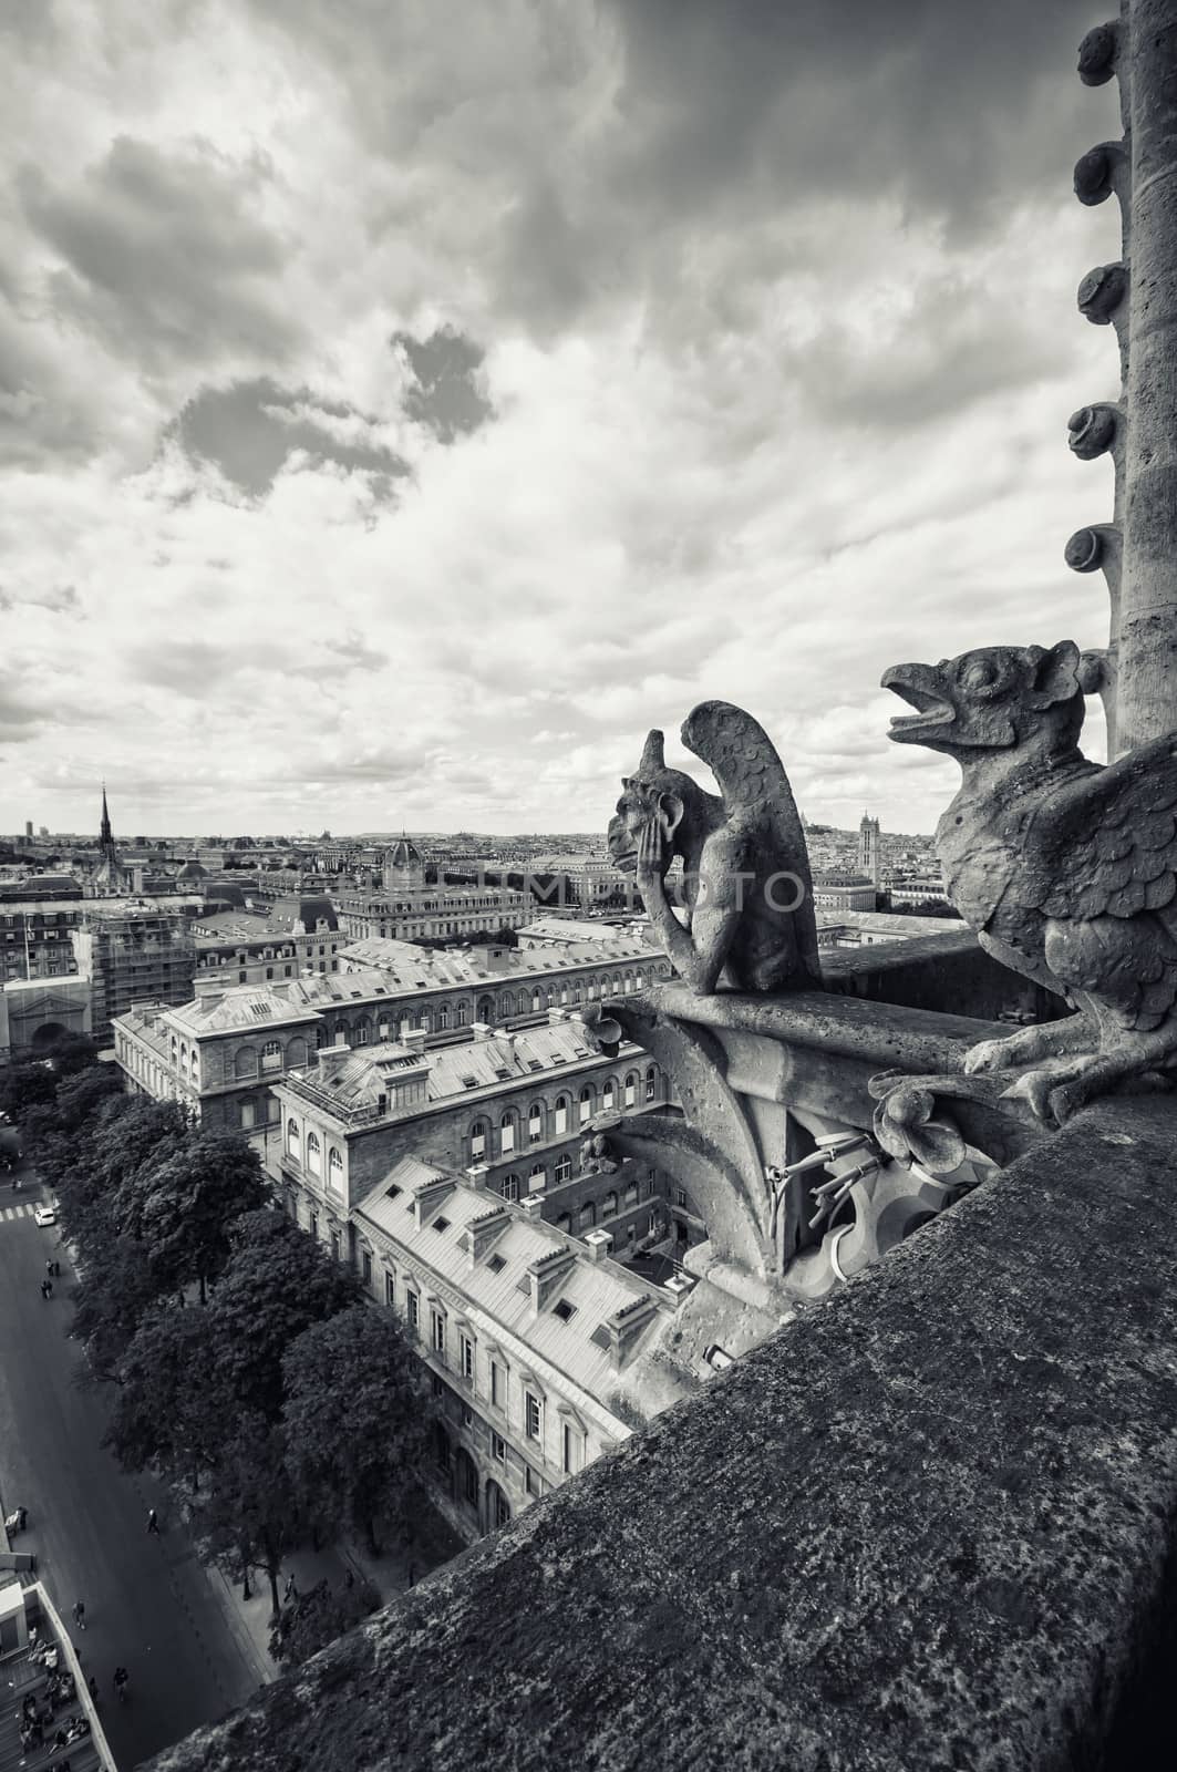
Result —
[[[1078,1014],[982,1040],[964,1070],[1021,1069],[1007,1095],[1062,1125],[1177,1060],[1177,737],[1117,762],[1078,750],[1092,656],[984,647],[883,677],[916,709],[892,739],[955,757],[964,780],[936,828],[948,897],[1005,966]]]

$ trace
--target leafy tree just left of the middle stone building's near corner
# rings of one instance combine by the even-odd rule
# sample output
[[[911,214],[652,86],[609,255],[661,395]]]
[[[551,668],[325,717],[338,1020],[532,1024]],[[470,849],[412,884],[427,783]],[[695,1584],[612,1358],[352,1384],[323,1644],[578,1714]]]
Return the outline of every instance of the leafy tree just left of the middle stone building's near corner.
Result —
[[[135,1198],[151,1265],[175,1288],[195,1279],[204,1304],[209,1281],[229,1260],[230,1226],[262,1205],[269,1184],[243,1138],[197,1129],[160,1161],[142,1164],[122,1194]]]

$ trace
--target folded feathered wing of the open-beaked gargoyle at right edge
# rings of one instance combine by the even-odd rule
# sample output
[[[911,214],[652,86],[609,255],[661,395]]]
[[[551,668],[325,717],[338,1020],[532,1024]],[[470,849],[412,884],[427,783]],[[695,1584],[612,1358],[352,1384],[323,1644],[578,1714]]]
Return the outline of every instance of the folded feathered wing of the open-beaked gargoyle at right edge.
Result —
[[[1166,913],[1177,921],[1177,735],[1078,776],[1035,813],[1017,898],[1088,921]]]

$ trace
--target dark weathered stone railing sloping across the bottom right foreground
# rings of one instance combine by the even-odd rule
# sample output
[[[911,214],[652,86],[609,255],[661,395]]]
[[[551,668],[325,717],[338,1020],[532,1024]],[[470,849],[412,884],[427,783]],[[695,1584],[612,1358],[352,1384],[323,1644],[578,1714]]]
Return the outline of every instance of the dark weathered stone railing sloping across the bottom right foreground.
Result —
[[[156,1772],[1166,1763],[1175,1136],[1085,1111]]]

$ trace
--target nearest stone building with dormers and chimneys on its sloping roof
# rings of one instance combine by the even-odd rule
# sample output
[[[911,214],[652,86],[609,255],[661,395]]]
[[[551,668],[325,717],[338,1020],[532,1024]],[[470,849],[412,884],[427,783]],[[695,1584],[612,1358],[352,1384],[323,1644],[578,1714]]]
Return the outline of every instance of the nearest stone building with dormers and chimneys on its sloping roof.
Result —
[[[349,1258],[429,1366],[441,1419],[424,1473],[466,1540],[493,1531],[695,1389],[658,1359],[670,1290],[468,1177],[401,1157],[355,1203]],[[326,1217],[326,1207],[324,1217]]]

